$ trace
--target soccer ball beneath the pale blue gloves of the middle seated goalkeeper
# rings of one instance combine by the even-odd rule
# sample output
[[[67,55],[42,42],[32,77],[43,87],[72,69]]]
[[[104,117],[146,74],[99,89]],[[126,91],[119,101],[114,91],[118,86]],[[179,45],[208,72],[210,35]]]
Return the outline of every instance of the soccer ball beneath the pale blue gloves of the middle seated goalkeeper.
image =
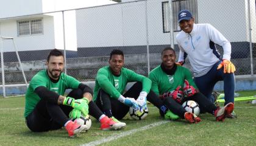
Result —
[[[140,109],[134,109],[133,107],[130,107],[129,114],[132,119],[135,120],[142,120],[145,119],[146,116],[148,116],[149,109],[148,107],[140,107]]]

